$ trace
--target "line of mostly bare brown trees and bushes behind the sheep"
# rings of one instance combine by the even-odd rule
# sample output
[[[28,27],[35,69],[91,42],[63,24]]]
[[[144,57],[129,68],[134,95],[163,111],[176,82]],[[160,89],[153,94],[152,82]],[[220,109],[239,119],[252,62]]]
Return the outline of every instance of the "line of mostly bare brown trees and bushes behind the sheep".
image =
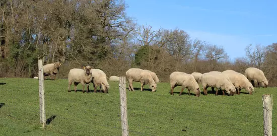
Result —
[[[252,66],[264,72],[269,86],[277,85],[277,43],[248,45],[245,57],[230,61],[223,47],[192,39],[184,30],[136,24],[126,8],[123,0],[0,1],[0,77],[37,76],[42,59],[62,63],[59,78],[85,65],[107,76],[147,69],[161,82],[174,71],[244,73]]]

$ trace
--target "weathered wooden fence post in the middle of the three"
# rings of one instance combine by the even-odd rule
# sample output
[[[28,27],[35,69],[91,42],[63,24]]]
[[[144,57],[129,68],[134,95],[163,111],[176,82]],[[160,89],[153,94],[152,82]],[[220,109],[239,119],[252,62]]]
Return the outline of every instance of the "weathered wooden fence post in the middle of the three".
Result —
[[[122,136],[129,135],[128,119],[127,119],[127,94],[126,94],[126,78],[119,77],[119,94],[120,94],[120,113]]]

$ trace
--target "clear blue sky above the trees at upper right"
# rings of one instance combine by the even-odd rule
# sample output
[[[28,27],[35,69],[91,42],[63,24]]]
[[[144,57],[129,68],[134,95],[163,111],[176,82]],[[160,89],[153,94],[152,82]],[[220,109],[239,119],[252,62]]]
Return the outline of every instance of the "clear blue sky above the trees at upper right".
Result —
[[[245,56],[249,44],[277,42],[277,1],[125,0],[127,16],[154,30],[179,28],[224,47],[230,59]]]

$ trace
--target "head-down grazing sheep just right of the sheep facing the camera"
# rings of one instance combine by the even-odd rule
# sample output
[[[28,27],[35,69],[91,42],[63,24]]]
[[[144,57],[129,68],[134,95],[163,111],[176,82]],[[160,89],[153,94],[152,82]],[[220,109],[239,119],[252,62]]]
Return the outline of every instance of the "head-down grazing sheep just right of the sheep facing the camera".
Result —
[[[99,86],[100,92],[102,88],[104,93],[108,93],[108,89],[110,88],[110,85],[107,81],[106,74],[99,69],[91,69],[91,73],[93,77],[93,80],[91,82],[93,83],[94,92],[96,93],[97,87]]]

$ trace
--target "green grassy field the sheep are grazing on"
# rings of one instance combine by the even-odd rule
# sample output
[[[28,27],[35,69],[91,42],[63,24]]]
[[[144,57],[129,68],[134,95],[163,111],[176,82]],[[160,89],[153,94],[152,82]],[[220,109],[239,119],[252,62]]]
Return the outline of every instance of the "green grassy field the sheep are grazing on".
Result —
[[[0,78],[0,135],[121,135],[118,82],[109,94],[67,92],[67,80],[45,81],[47,127],[39,123],[38,80]],[[128,85],[126,85],[128,86]],[[262,94],[277,96],[276,88],[256,88],[253,95],[179,96],[169,94],[169,83],[157,92],[127,91],[129,135],[262,135]],[[90,86],[92,91],[93,86]],[[145,86],[148,88],[148,86]],[[72,86],[74,89],[74,86]],[[209,88],[211,90],[211,88]],[[202,93],[203,90],[201,90]],[[273,101],[273,109],[277,103]],[[272,135],[276,115],[272,112]]]

